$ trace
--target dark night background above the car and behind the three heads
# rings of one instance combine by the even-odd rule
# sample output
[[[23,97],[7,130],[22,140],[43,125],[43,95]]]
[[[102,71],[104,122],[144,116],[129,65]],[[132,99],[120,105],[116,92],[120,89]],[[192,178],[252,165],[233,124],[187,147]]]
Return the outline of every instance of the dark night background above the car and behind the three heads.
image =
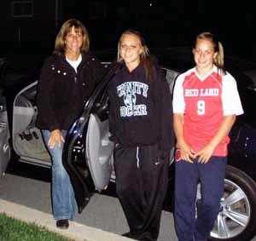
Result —
[[[195,34],[211,31],[225,53],[256,61],[256,18],[249,0],[1,0],[0,58],[22,56],[40,66],[69,18],[87,27],[92,50],[116,49],[127,28],[142,32],[149,49],[191,46]]]

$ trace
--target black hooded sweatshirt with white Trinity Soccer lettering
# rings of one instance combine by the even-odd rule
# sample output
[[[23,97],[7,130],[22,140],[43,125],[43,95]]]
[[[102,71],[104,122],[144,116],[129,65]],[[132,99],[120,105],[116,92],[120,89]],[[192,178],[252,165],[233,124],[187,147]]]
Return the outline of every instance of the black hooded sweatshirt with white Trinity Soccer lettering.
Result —
[[[163,71],[156,63],[154,67],[153,81],[146,79],[143,65],[132,72],[124,66],[110,81],[109,123],[115,143],[172,148],[172,97]]]

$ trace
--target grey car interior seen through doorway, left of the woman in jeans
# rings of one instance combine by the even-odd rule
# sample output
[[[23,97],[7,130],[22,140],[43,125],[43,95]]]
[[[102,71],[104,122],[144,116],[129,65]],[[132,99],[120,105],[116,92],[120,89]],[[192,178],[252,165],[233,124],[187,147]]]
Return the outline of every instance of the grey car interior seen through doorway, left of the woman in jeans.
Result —
[[[36,127],[38,117],[36,95],[37,83],[32,83],[15,97],[13,146],[21,161],[49,166],[49,153],[44,146],[41,132]]]

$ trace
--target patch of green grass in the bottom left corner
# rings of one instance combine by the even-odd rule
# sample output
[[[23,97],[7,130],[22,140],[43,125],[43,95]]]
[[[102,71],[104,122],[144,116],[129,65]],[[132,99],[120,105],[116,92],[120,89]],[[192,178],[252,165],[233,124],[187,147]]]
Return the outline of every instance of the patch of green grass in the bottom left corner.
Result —
[[[72,241],[44,227],[0,214],[0,241]]]

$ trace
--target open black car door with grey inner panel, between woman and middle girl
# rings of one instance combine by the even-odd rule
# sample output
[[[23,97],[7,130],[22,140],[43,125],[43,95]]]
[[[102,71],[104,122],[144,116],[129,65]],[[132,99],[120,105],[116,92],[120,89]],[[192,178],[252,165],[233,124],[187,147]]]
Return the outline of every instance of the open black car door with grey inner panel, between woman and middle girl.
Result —
[[[62,162],[73,184],[79,213],[91,195],[108,186],[112,173],[113,142],[108,131],[108,81],[119,71],[113,66],[84,106],[84,112],[68,130]]]

